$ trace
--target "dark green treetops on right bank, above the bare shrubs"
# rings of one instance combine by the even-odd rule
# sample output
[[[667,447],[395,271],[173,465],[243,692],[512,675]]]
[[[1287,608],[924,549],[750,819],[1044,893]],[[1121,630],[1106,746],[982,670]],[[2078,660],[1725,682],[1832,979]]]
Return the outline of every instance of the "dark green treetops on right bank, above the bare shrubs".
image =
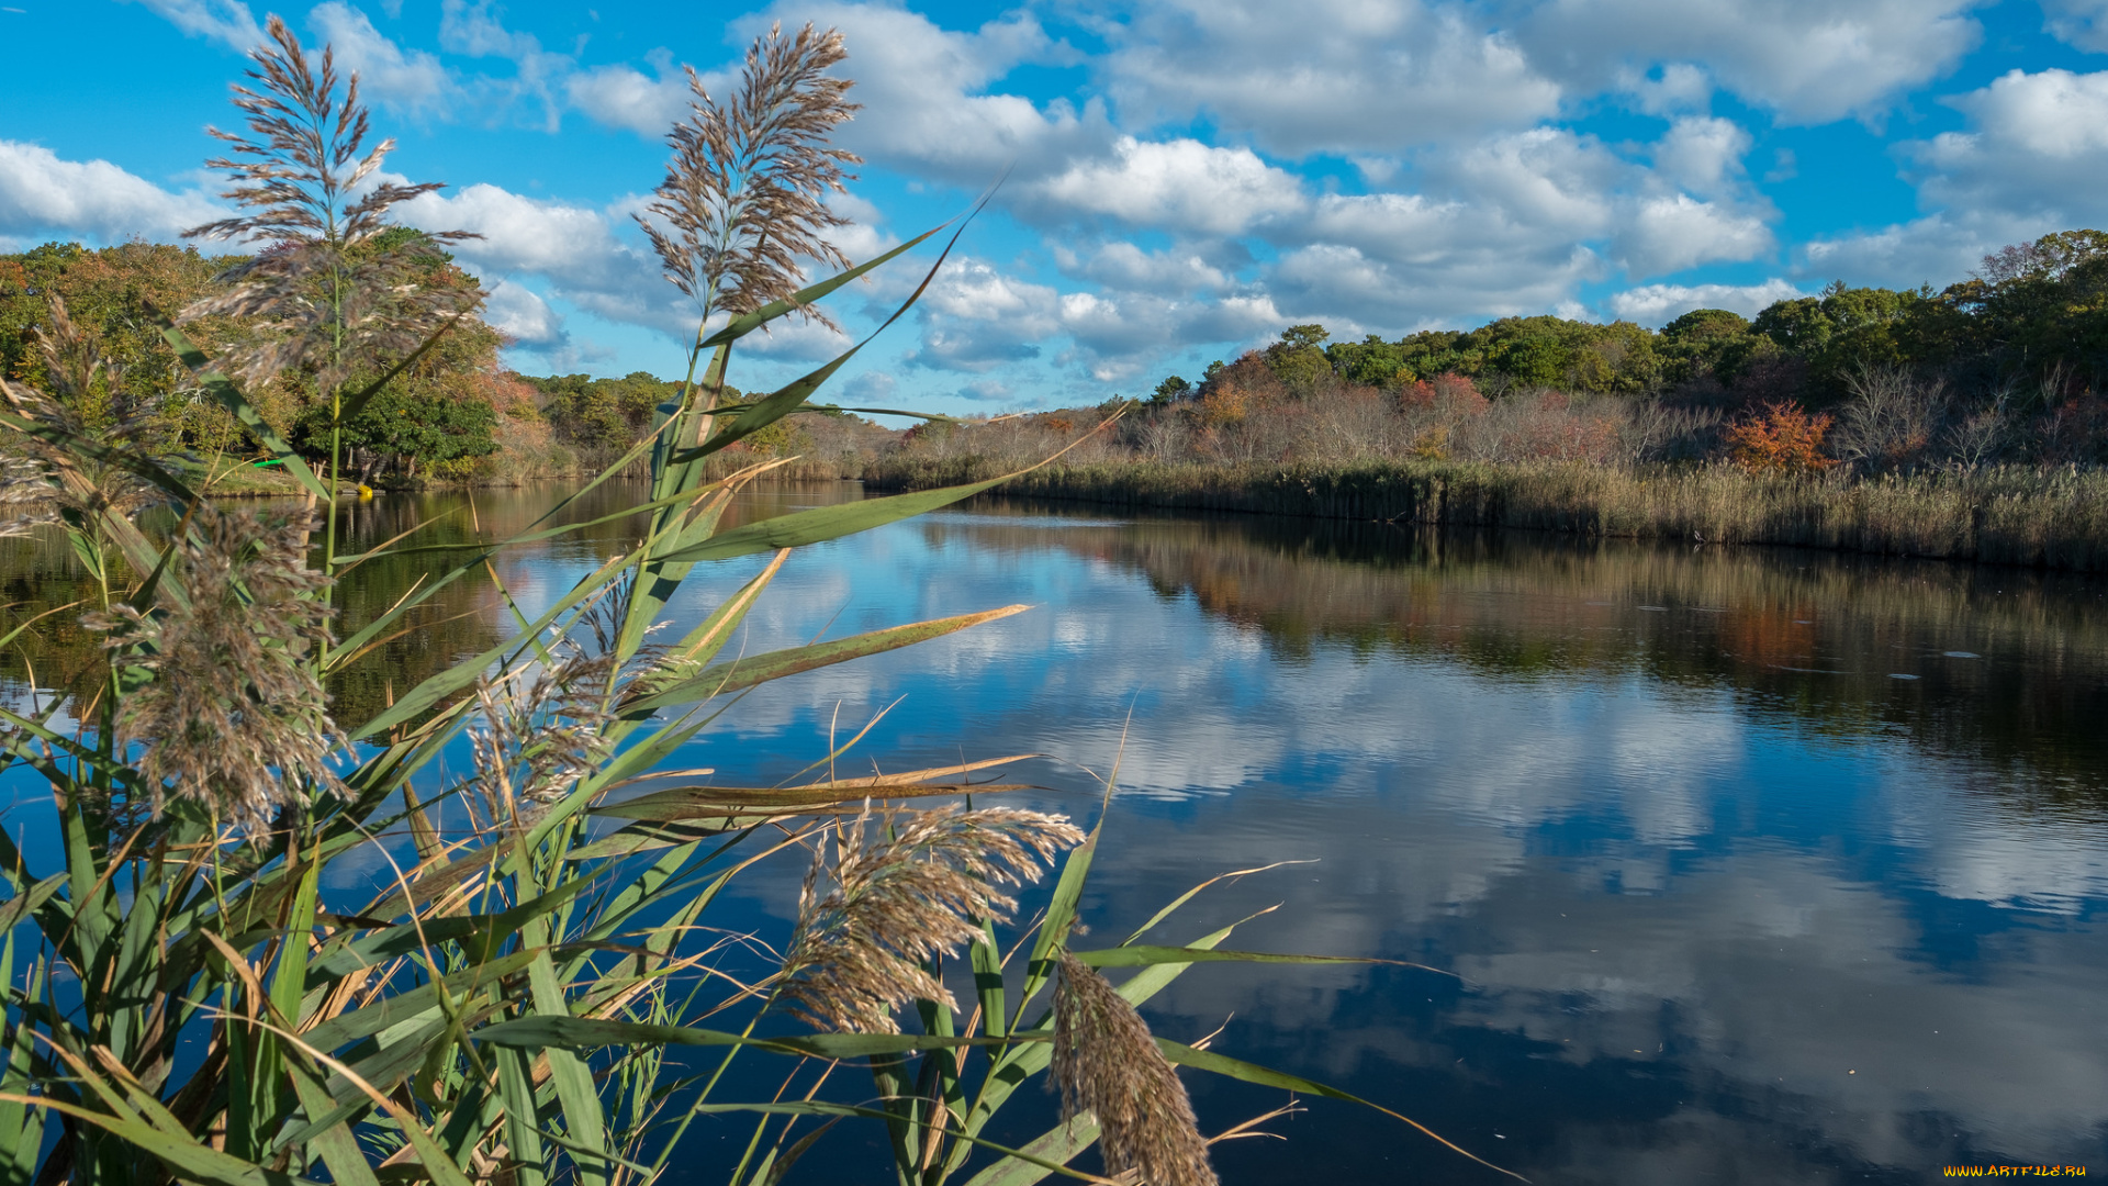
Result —
[[[1294,325],[1237,363],[1212,363],[1199,382],[1168,376],[1151,403],[1206,399],[1250,380],[1254,367],[1290,390],[1332,382],[1400,390],[1463,376],[1492,397],[1551,388],[1807,409],[1836,409],[1901,378],[1948,414],[2053,416],[2085,405],[2076,414],[2097,420],[2093,393],[2108,374],[2108,234],[2064,230],[2005,247],[1939,291],[1838,281],[1819,295],[1773,302],[1756,319],[1701,308],[1659,331],[1503,317],[1478,329],[1334,342],[1324,325]]]

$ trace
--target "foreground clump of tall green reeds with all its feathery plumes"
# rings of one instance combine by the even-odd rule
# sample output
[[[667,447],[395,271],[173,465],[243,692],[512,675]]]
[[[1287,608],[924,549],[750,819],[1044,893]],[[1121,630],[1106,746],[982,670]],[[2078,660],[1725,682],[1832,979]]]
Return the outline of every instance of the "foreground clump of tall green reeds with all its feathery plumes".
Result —
[[[778,177],[805,200],[843,162],[818,144],[847,114],[845,84],[820,78],[839,61],[833,34],[772,32],[729,114],[698,89],[700,131],[675,137],[672,190],[715,213],[694,226],[668,215],[675,232],[656,236],[668,272],[691,268],[700,308],[689,380],[653,428],[521,530],[419,542],[411,525],[360,555],[337,551],[335,483],[270,433],[242,382],[312,365],[341,418],[377,390],[348,393],[344,359],[360,342],[403,346],[438,310],[405,291],[356,298],[379,272],[360,279],[348,251],[382,236],[379,215],[403,194],[356,190],[386,150],[360,156],[356,78],[337,99],[327,51],[316,65],[278,21],[272,38],[253,55],[264,91],[236,93],[259,137],[236,139],[253,160],[228,165],[251,213],[204,230],[278,236],[282,260],[230,276],[228,300],[280,308],[285,338],[236,352],[232,378],[181,327],[164,338],[308,506],[213,509],[145,449],[84,435],[48,393],[11,386],[0,412],[25,458],[11,481],[57,509],[91,574],[53,614],[76,612],[103,639],[65,688],[0,707],[0,751],[53,798],[19,840],[0,829],[0,1186],[641,1186],[668,1171],[698,1121],[723,1137],[738,1114],[759,1116],[744,1152],[713,1167],[734,1186],[780,1182],[843,1118],[883,1123],[902,1184],[970,1169],[972,1186],[1105,1182],[1071,1165],[1102,1131],[1109,1169],[1183,1186],[1212,1171],[1174,1064],[1351,1099],[1147,1034],[1134,1007],[1195,962],[1309,958],[1223,950],[1233,926],[1187,945],[1081,950],[1077,907],[1105,810],[1086,834],[1058,815],[951,806],[1020,789],[978,781],[1018,758],[772,787],[668,768],[746,688],[1024,610],[767,654],[731,646],[793,549],[1014,477],[727,517],[780,462],[715,466],[850,357],[727,403],[734,346],[934,234],[780,291],[790,264],[759,241],[803,207],[746,198],[778,165],[805,160],[818,165]],[[713,120],[759,129],[767,152],[715,160],[746,141],[713,139]],[[335,304],[293,308],[316,287]],[[571,515],[639,460],[639,498]],[[148,504],[173,513],[139,515]],[[320,540],[318,504],[331,509]],[[607,559],[529,614],[497,561],[567,534],[607,544]],[[746,585],[662,629],[696,566],[748,555],[767,561]],[[415,578],[350,620],[333,591],[363,566]],[[419,614],[476,574],[512,614],[510,637],[390,684],[377,711],[333,720],[325,690],[363,656],[441,629]],[[755,764],[736,741],[715,745],[731,768]],[[725,929],[729,884],[799,859],[807,882],[786,933]],[[1024,886],[1056,863],[1033,922],[1010,924]],[[358,876],[373,867],[386,869],[377,886]],[[731,954],[753,945],[784,960],[742,977]],[[949,969],[961,948],[965,967]],[[1113,986],[1098,967],[1134,971]],[[1115,1072],[1145,1040],[1153,1059],[1134,1083],[1147,1108],[1132,1110]],[[1056,1045],[1069,1123],[1022,1150],[991,1142],[989,1125]],[[713,1074],[683,1076],[672,1047],[723,1053]],[[727,1080],[740,1053],[769,1059],[759,1074],[780,1074],[780,1087],[746,1095],[753,1072]],[[871,1085],[841,1087],[856,1078],[833,1074],[843,1064]]]

